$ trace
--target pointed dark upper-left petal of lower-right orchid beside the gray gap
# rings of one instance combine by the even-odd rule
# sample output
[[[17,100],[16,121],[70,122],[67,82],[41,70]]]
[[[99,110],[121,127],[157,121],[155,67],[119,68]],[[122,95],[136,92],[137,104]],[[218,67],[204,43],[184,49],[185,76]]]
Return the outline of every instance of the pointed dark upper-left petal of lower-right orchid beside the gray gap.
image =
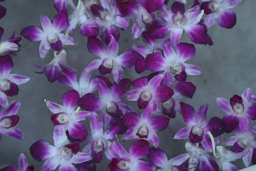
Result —
[[[196,122],[195,109],[194,107],[185,104],[183,102],[179,103],[181,115],[183,117],[184,122],[187,126],[192,126]]]

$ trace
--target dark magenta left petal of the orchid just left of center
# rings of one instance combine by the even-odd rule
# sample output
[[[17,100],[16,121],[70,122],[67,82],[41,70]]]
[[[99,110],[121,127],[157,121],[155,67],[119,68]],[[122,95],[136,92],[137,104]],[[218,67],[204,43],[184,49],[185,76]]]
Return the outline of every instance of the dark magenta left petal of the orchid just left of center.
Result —
[[[79,107],[87,111],[98,111],[100,109],[100,100],[94,93],[87,93],[79,99]]]

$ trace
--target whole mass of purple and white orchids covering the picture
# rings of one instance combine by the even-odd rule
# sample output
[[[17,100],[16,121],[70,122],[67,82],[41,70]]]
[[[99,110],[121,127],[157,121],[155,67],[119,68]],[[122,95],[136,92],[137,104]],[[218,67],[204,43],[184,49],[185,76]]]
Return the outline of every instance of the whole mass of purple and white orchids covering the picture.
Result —
[[[40,170],[96,171],[103,158],[109,160],[105,170],[110,171],[237,171],[233,161],[242,159],[245,167],[256,164],[256,124],[249,123],[256,120],[256,94],[250,88],[229,100],[217,98],[226,113],[222,118],[207,119],[208,104],[196,112],[182,102],[196,91],[187,76],[201,73],[198,66],[187,63],[196,55],[194,43],[213,45],[208,29],[216,21],[225,29],[234,27],[236,14],[230,9],[241,1],[194,0],[188,6],[186,0],[54,0],[57,14],[52,20],[40,15],[42,29],[28,26],[20,32],[29,41],[40,41],[41,59],[53,51],[52,61],[37,65],[37,73],[50,83],[70,87],[62,104],[45,100],[55,125],[54,145],[38,140],[29,148],[35,160],[45,161]],[[0,6],[0,17],[4,13]],[[96,56],[79,78],[67,64],[64,50],[74,45],[72,34],[77,29]],[[142,38],[144,44],[120,53],[120,32]],[[180,42],[183,32],[191,42]],[[0,37],[2,33],[1,28]],[[20,103],[8,107],[7,101],[7,96],[18,94],[17,85],[29,80],[10,74],[10,55],[19,50],[20,39],[12,36],[0,43],[0,106],[7,108],[0,112],[0,136],[22,139],[24,134],[14,128]],[[133,66],[137,78],[123,78],[123,68]],[[93,72],[98,75],[91,78]],[[137,107],[131,107],[131,101]],[[184,128],[173,138],[187,139],[187,152],[168,159],[158,148],[158,131],[168,128],[177,113]],[[234,134],[224,139],[224,133]],[[123,147],[125,140],[133,140],[129,151]],[[21,154],[19,171],[33,170]],[[0,171],[18,170],[7,166]]]

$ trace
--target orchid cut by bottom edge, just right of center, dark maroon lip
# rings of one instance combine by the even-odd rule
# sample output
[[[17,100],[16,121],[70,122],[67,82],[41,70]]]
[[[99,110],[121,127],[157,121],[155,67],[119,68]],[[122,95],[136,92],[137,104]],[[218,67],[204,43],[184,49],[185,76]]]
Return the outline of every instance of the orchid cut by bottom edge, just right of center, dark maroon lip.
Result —
[[[155,171],[155,166],[139,160],[148,154],[149,144],[145,140],[137,140],[130,146],[129,153],[115,141],[110,145],[106,156],[111,160],[110,171]]]

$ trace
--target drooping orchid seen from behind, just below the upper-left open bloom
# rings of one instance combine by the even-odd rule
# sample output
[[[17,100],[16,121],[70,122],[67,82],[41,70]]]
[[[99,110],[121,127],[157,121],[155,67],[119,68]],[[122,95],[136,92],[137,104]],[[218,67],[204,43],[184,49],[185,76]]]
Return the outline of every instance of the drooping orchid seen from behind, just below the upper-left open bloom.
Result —
[[[56,80],[59,80],[61,76],[63,76],[63,69],[68,70],[69,72],[75,72],[76,70],[67,64],[66,57],[67,53],[64,49],[61,50],[59,54],[54,53],[54,58],[49,64],[44,66],[36,65],[37,68],[42,69],[42,71],[37,71],[36,73],[44,73],[47,80],[50,83],[54,83]]]

